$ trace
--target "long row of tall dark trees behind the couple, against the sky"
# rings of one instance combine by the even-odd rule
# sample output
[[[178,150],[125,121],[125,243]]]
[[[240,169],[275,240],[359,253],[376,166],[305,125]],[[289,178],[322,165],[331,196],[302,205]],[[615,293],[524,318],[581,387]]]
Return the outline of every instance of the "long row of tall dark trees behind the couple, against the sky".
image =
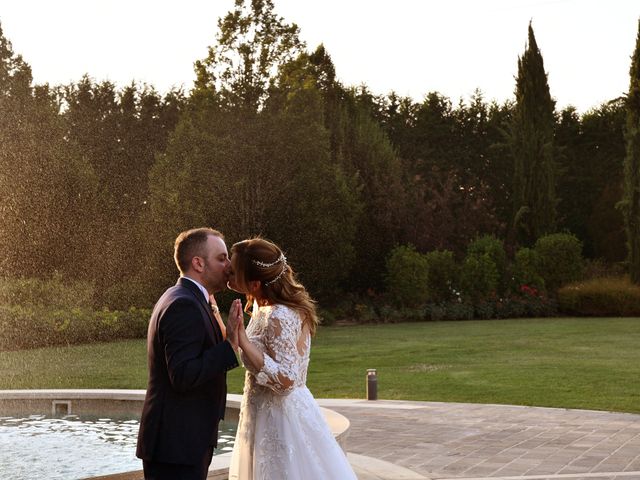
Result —
[[[568,231],[589,258],[627,258],[626,100],[556,111],[531,25],[515,100],[415,101],[341,84],[273,10],[236,0],[194,88],[164,95],[35,85],[0,27],[0,275],[149,305],[177,232],[201,225],[278,242],[325,299],[380,292],[397,245],[462,255],[493,234],[513,252]]]

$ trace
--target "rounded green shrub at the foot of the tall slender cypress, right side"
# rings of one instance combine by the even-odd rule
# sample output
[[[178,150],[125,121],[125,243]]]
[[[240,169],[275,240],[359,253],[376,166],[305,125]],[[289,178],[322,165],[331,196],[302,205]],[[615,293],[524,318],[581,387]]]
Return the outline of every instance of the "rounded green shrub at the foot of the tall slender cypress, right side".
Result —
[[[534,247],[539,263],[539,272],[549,293],[569,282],[579,280],[582,275],[582,243],[570,233],[553,233],[540,237]]]

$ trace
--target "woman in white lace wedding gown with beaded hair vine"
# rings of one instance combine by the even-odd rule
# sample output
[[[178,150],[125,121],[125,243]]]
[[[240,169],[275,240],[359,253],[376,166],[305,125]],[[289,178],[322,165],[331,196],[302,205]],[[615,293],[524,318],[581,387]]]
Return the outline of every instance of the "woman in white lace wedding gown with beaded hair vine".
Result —
[[[282,251],[262,238],[231,248],[229,287],[244,293],[247,369],[230,480],[350,480],[356,476],[306,386],[315,304]]]

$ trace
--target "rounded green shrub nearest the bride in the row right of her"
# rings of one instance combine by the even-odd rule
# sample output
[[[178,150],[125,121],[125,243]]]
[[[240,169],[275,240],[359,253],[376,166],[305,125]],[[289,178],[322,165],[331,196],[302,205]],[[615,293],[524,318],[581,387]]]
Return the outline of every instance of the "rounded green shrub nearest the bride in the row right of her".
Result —
[[[427,259],[415,247],[394,248],[387,260],[387,293],[402,306],[417,306],[429,296]]]

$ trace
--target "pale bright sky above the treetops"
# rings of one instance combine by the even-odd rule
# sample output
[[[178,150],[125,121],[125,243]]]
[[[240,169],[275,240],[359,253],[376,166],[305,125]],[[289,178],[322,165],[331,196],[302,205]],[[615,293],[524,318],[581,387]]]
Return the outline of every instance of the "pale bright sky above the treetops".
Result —
[[[273,0],[310,50],[323,43],[347,86],[454,103],[475,89],[514,98],[532,22],[558,109],[623,95],[640,0]],[[89,74],[122,87],[188,91],[233,0],[0,0],[0,25],[36,83]]]

